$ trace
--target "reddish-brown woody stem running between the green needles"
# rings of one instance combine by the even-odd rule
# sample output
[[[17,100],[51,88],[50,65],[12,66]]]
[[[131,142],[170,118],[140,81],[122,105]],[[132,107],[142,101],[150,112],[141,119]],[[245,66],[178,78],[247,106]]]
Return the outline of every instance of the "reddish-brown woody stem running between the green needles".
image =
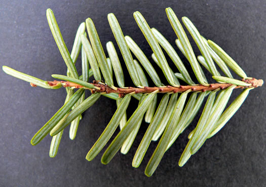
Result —
[[[258,86],[262,86],[263,84],[263,80],[261,79],[242,79],[242,81],[246,82],[246,83],[250,83],[250,86],[236,86],[235,88],[251,88],[251,87],[258,87]],[[68,81],[48,81],[48,84],[50,86],[56,86],[59,83],[61,83],[64,87],[75,87],[75,88],[81,88],[84,86],[81,86],[79,84],[75,84],[72,82],[68,82]],[[139,88],[139,87],[127,87],[127,88],[117,88],[113,89],[111,87],[109,87],[106,84],[103,84],[101,82],[98,81],[93,81],[94,86],[100,87],[100,90],[96,90],[96,89],[90,89],[92,93],[95,92],[106,92],[106,93],[119,93],[119,97],[124,97],[126,94],[131,93],[131,92],[135,92],[135,93],[151,93],[155,90],[159,89],[159,93],[168,93],[168,92],[184,92],[188,89],[192,89],[192,91],[211,91],[211,90],[215,90],[217,88],[220,89],[225,89],[229,86],[232,86],[233,84],[230,83],[213,83],[210,84],[209,86],[204,86],[201,84],[197,84],[197,85],[187,85],[187,86],[179,86],[179,87],[174,87],[174,86],[164,86],[164,87],[147,87],[144,86],[143,88]],[[87,88],[89,89],[89,88]]]

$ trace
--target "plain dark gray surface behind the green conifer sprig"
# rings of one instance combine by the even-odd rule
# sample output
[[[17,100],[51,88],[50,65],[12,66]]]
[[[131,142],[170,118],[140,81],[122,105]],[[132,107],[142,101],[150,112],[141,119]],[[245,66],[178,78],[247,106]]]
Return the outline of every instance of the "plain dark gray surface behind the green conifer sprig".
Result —
[[[46,20],[54,11],[70,50],[79,24],[91,17],[100,40],[115,41],[107,14],[115,13],[125,35],[130,35],[150,56],[151,50],[133,18],[140,11],[174,46],[176,38],[165,8],[178,18],[189,17],[200,33],[228,52],[248,76],[265,80],[266,2],[241,1],[0,1],[0,63],[45,80],[64,74],[66,66]],[[192,41],[192,40],[191,40]],[[192,45],[199,54],[194,42]],[[116,45],[117,46],[117,45]],[[175,49],[177,49],[175,47]],[[183,55],[188,70],[187,61]],[[169,60],[170,61],[170,60]],[[79,64],[79,63],[78,63]],[[125,66],[123,66],[125,68]],[[171,67],[174,68],[171,63]],[[78,66],[81,72],[81,66]],[[206,71],[205,71],[206,72]],[[206,72],[208,77],[210,75]],[[127,74],[128,75],[128,74]],[[235,75],[235,74],[234,74]],[[195,77],[194,77],[195,78]],[[178,160],[194,121],[167,151],[154,175],[144,169],[157,143],[152,143],[137,169],[131,166],[134,152],[147,127],[143,122],[132,149],[118,153],[104,166],[98,155],[85,160],[112,114],[115,102],[101,98],[85,112],[77,138],[64,132],[58,155],[49,157],[51,137],[37,146],[30,139],[61,107],[65,90],[32,88],[28,83],[0,72],[0,186],[265,186],[265,86],[252,90],[235,116],[216,136],[180,168]],[[91,79],[93,80],[93,79]],[[210,79],[209,79],[210,80]],[[128,84],[131,84],[127,80]],[[233,99],[239,90],[235,91]],[[89,95],[89,93],[87,94]],[[132,102],[129,113],[137,103]],[[199,119],[199,116],[196,117]],[[117,133],[117,132],[116,132]],[[104,148],[105,149],[105,148]],[[100,153],[102,154],[103,151]]]

